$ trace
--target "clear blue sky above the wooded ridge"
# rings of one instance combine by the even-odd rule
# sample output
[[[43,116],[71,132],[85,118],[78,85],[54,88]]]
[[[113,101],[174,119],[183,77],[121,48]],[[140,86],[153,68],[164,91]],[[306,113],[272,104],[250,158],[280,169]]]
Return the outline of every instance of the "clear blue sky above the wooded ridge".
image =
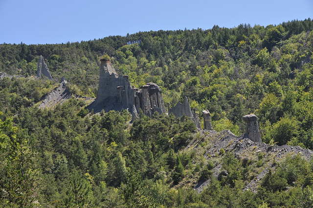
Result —
[[[80,42],[308,18],[313,19],[313,0],[0,0],[0,43]]]

